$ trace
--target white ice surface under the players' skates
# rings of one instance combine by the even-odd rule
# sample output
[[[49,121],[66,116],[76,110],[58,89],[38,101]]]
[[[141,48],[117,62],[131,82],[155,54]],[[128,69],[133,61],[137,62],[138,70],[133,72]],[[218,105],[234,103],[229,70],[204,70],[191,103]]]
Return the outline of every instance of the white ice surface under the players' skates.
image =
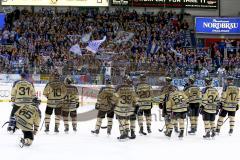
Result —
[[[11,111],[11,103],[0,104],[0,125],[8,120]],[[46,104],[40,106],[44,113]],[[83,107],[79,113],[92,110],[94,107]],[[60,133],[44,133],[44,128],[35,136],[31,147],[20,148],[18,141],[22,133],[18,130],[10,135],[6,131],[6,126],[0,130],[0,153],[1,160],[66,160],[66,159],[236,159],[239,154],[240,144],[240,119],[236,115],[236,126],[234,134],[228,135],[228,121],[224,124],[221,135],[214,140],[203,140],[203,122],[200,119],[200,126],[195,136],[185,134],[179,140],[177,134],[173,134],[171,139],[167,139],[163,133],[158,131],[164,123],[159,120],[158,107],[153,109],[152,134],[140,136],[138,127],[136,128],[137,138],[126,142],[119,142],[118,122],[114,121],[112,135],[107,136],[106,130],[101,130],[99,136],[92,135],[90,131],[95,127],[96,119],[78,122],[78,132],[72,130],[68,134],[63,132],[63,122],[61,122]],[[44,117],[44,114],[42,114]],[[43,120],[43,118],[42,118]],[[54,122],[54,121],[52,121]],[[41,122],[42,123],[42,122]],[[53,123],[52,123],[53,124]],[[103,121],[103,125],[106,122]]]

